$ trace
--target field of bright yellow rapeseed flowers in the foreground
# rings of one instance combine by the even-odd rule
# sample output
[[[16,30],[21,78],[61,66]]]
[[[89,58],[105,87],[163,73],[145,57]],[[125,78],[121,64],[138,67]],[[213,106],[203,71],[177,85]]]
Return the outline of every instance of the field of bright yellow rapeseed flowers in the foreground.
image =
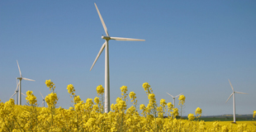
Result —
[[[48,107],[38,107],[33,92],[26,92],[26,101],[29,106],[17,106],[14,100],[0,102],[0,131],[256,131],[256,121],[199,121],[201,108],[197,107],[195,114],[187,115],[188,120],[177,119],[183,112],[186,97],[181,95],[178,108],[173,108],[171,102],[161,99],[159,104],[148,82],[144,88],[149,103],[138,106],[135,92],[130,92],[126,86],[121,87],[121,97],[116,98],[116,104],[111,105],[111,111],[104,113],[104,87],[99,85],[96,90],[99,97],[88,98],[82,101],[75,94],[72,84],[67,86],[73,106],[69,109],[56,108],[58,96],[55,92],[55,83],[46,80],[45,84],[51,93],[45,97]],[[130,101],[133,106],[127,107]],[[1,101],[1,100],[0,100]],[[137,111],[140,107],[141,113]],[[164,118],[167,115],[168,118]],[[254,111],[254,116],[256,111]]]

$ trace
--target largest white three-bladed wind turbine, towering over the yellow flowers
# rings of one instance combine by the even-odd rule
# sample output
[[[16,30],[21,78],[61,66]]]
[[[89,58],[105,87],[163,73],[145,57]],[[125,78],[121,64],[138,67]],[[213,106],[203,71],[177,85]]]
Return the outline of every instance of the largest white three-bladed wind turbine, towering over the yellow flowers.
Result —
[[[94,2],[94,5],[97,9],[97,5],[96,5],[95,2]],[[101,50],[98,52],[97,57],[94,60],[90,71],[92,70],[94,64],[97,62],[98,57],[102,54],[102,51],[106,47],[106,50],[105,50],[105,112],[108,113],[110,111],[108,40],[130,40],[130,41],[145,41],[145,40],[109,36],[108,32],[107,32],[107,26],[105,25],[105,22],[102,19],[102,15],[101,15],[101,13],[99,12],[98,9],[97,9],[97,14],[98,14],[98,16],[100,17],[100,19],[102,21],[102,26],[104,28],[104,31],[105,31],[106,35],[102,35],[102,39],[105,40],[105,43],[102,45]]]

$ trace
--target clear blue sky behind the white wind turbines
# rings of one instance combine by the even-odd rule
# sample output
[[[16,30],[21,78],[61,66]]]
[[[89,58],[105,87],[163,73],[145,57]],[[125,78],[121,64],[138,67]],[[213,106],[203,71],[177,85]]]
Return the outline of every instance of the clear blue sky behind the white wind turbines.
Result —
[[[45,80],[55,82],[58,106],[72,105],[70,83],[84,101],[104,87],[105,54],[90,72],[105,32],[94,2],[111,36],[145,39],[111,40],[109,45],[111,103],[120,87],[135,92],[138,104],[147,104],[144,82],[156,99],[173,101],[183,92],[183,115],[201,107],[202,115],[256,110],[256,2],[255,1],[1,1],[0,99],[16,89],[19,61],[23,93],[50,93]],[[105,50],[104,50],[105,52]],[[22,97],[22,104],[25,104]],[[130,106],[130,102],[128,103]],[[176,101],[178,104],[178,100]]]

